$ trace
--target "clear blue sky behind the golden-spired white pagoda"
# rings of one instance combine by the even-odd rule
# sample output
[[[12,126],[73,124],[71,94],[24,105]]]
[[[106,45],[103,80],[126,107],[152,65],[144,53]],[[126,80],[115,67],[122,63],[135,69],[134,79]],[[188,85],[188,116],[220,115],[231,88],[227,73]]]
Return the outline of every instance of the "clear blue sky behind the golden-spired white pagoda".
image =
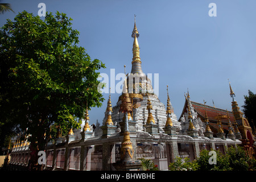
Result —
[[[38,14],[38,4],[46,10],[66,13],[73,19],[72,28],[80,32],[79,46],[92,59],[110,69],[131,71],[134,14],[139,31],[139,47],[144,73],[159,73],[159,99],[166,105],[167,91],[177,118],[184,106],[184,92],[191,100],[231,110],[230,79],[236,101],[242,109],[244,95],[256,93],[256,1],[174,0],[174,1],[2,1],[11,3],[13,12],[0,15],[6,19],[26,10]],[[217,16],[210,17],[209,3],[216,3]],[[153,77],[154,78],[154,77]],[[118,81],[115,82],[117,84]],[[120,94],[112,93],[114,106]],[[91,108],[90,124],[102,123],[108,94],[101,108]]]

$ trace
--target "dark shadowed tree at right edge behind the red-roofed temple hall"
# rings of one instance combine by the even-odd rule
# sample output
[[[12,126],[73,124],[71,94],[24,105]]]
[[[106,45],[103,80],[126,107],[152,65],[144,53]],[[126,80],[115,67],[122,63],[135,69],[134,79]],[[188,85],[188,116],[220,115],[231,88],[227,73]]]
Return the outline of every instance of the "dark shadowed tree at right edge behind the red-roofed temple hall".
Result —
[[[248,96],[243,97],[245,97],[245,105],[242,106],[243,113],[245,113],[245,117],[248,119],[251,129],[253,129],[254,133],[256,133],[256,94],[251,92],[251,90],[248,90]]]

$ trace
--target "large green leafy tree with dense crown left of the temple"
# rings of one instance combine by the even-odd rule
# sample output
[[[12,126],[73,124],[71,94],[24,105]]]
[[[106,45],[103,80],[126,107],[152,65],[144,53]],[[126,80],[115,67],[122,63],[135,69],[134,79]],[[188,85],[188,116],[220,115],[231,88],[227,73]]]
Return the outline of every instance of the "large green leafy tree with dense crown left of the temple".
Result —
[[[42,20],[23,11],[1,28],[0,125],[4,130],[12,122],[31,134],[34,163],[50,126],[63,133],[79,128],[86,105],[99,107],[104,101],[97,71],[105,65],[77,46],[79,31],[71,20],[59,12]]]

